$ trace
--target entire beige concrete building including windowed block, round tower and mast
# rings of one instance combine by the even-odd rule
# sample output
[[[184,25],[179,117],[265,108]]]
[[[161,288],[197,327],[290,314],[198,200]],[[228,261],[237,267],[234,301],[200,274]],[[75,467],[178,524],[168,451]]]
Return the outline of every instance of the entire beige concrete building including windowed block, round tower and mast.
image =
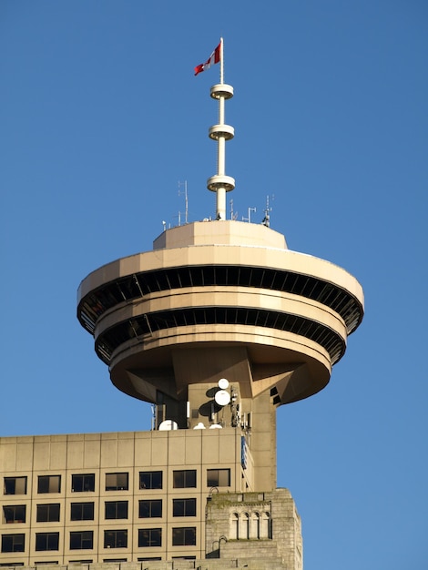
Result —
[[[117,388],[153,405],[153,429],[1,442],[6,495],[25,478],[25,494],[32,489],[37,501],[52,484],[50,502],[63,504],[66,521],[76,493],[85,495],[79,505],[92,504],[92,518],[70,523],[58,506],[51,532],[61,521],[66,534],[57,530],[61,554],[45,552],[45,562],[302,568],[300,518],[290,493],[276,486],[276,410],[329,382],[362,321],[362,288],[329,261],[288,249],[269,219],[226,219],[226,193],[235,187],[225,161],[233,87],[223,81],[222,55],[210,96],[219,105],[219,123],[209,128],[218,171],[207,182],[215,219],[166,229],[153,250],[95,270],[78,290],[78,320]],[[63,477],[62,490],[57,479],[43,479],[54,476]],[[37,517],[25,523],[30,534]],[[23,548],[2,560],[28,548],[25,563],[41,561],[35,545]],[[189,558],[203,564],[178,565]]]

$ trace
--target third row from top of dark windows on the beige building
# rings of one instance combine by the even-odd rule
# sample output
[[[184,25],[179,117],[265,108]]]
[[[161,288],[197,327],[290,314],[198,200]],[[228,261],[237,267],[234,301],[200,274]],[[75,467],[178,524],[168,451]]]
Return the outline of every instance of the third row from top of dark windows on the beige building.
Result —
[[[161,528],[138,529],[138,547],[162,545]],[[172,528],[173,546],[195,546],[196,527]],[[93,531],[70,532],[70,550],[94,548]],[[127,530],[104,531],[104,548],[127,548]],[[59,550],[59,533],[36,533],[36,551]],[[25,534],[2,534],[2,552],[24,552]]]

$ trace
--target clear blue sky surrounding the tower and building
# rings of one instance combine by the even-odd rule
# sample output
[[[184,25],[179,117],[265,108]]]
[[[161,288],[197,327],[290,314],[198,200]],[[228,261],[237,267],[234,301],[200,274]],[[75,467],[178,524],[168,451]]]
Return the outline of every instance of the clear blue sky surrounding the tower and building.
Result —
[[[219,36],[238,219],[274,195],[290,249],[366,296],[329,386],[278,413],[305,570],[426,568],[422,0],[0,3],[0,434],[149,428],[76,321],[76,290],[178,223],[179,181],[190,220],[214,213],[219,66],[193,67]]]

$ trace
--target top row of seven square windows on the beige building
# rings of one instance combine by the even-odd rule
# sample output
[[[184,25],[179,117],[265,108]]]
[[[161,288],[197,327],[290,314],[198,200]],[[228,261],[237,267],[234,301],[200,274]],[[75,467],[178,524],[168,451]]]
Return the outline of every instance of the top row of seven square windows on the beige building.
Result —
[[[174,471],[172,484],[175,489],[196,487],[196,469]],[[4,478],[4,494],[26,494],[26,486],[26,476]],[[229,487],[230,469],[207,469],[207,486]],[[139,488],[162,489],[163,472],[140,472]],[[71,475],[71,489],[75,493],[95,491],[95,473],[79,473]],[[106,473],[106,491],[127,491],[128,489],[129,473]],[[61,475],[38,475],[37,493],[61,493]]]

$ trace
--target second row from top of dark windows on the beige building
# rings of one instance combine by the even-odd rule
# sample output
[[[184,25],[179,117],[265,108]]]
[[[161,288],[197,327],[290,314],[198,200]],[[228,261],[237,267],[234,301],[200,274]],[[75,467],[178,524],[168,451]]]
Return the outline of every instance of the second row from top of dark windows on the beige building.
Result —
[[[127,501],[106,501],[104,504],[106,519],[127,519]],[[72,503],[70,505],[71,521],[93,521],[95,503]],[[196,516],[196,499],[173,499],[173,516]],[[138,518],[158,518],[162,516],[162,499],[138,501]],[[37,504],[36,523],[55,523],[60,520],[60,504]],[[25,523],[26,505],[9,504],[3,507],[4,523]]]

